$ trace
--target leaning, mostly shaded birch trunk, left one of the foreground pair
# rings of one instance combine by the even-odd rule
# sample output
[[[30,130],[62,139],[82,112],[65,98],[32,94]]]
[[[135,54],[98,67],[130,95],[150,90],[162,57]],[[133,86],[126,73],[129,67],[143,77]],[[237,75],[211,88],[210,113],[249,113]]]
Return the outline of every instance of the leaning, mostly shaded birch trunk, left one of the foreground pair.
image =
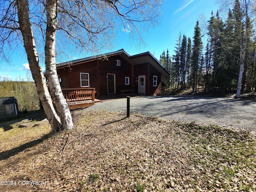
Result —
[[[36,89],[44,108],[44,112],[53,131],[57,131],[59,127],[59,118],[54,110],[52,99],[46,85],[44,74],[39,65],[38,53],[29,18],[28,0],[16,0],[18,7],[18,21],[22,32],[24,46],[28,57],[28,63],[32,73],[32,77],[36,84]]]

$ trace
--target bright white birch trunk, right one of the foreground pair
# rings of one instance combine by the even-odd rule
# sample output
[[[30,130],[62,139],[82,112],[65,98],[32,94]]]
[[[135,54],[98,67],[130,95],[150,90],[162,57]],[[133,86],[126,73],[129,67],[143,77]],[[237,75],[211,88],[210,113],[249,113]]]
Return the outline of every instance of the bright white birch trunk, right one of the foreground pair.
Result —
[[[55,57],[55,45],[56,45],[56,30],[57,30],[57,12],[58,12],[58,0],[46,0],[46,41],[45,41],[45,66],[46,66],[46,78],[52,99],[57,107],[58,116],[61,121],[61,129],[70,130],[74,127],[72,122],[72,116],[68,108],[68,104],[62,94],[58,74],[56,70],[56,57]]]

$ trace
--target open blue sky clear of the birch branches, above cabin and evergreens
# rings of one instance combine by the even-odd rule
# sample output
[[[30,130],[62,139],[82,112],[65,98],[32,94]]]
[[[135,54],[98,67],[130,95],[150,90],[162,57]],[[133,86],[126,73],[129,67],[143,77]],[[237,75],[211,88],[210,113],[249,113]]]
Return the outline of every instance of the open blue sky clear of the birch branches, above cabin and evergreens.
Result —
[[[204,22],[202,18],[209,20],[211,12],[216,14],[218,6],[215,0],[166,0],[162,9],[162,19],[159,26],[151,28],[144,36],[145,46],[131,44],[129,32],[119,32],[114,48],[104,50],[102,53],[124,49],[128,54],[134,55],[142,52],[151,52],[158,60],[160,54],[169,50],[173,54],[178,35],[181,32],[192,39],[196,21],[199,20],[203,32]],[[82,57],[87,57],[86,55]],[[63,61],[64,62],[64,61]],[[42,65],[42,68],[44,66]],[[12,64],[0,64],[0,81],[2,80],[28,80],[30,70],[25,52],[16,52],[12,55]],[[30,80],[32,80],[30,76]]]

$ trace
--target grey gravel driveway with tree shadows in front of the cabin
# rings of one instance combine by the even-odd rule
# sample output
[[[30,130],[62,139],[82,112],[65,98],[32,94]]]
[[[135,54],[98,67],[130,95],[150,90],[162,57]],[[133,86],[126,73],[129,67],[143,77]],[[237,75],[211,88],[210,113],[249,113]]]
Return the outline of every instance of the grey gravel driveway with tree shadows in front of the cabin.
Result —
[[[126,113],[126,98],[95,103],[85,110]],[[217,124],[256,131],[256,102],[205,96],[145,96],[130,98],[130,112],[181,122]]]

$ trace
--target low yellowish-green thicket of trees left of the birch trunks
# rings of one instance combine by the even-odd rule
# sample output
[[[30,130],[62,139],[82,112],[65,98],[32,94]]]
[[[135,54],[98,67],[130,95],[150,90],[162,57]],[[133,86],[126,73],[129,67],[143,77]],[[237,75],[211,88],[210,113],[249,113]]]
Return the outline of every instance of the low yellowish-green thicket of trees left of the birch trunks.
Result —
[[[31,81],[0,81],[0,98],[16,97],[20,111],[39,110],[40,102],[36,86]]]

